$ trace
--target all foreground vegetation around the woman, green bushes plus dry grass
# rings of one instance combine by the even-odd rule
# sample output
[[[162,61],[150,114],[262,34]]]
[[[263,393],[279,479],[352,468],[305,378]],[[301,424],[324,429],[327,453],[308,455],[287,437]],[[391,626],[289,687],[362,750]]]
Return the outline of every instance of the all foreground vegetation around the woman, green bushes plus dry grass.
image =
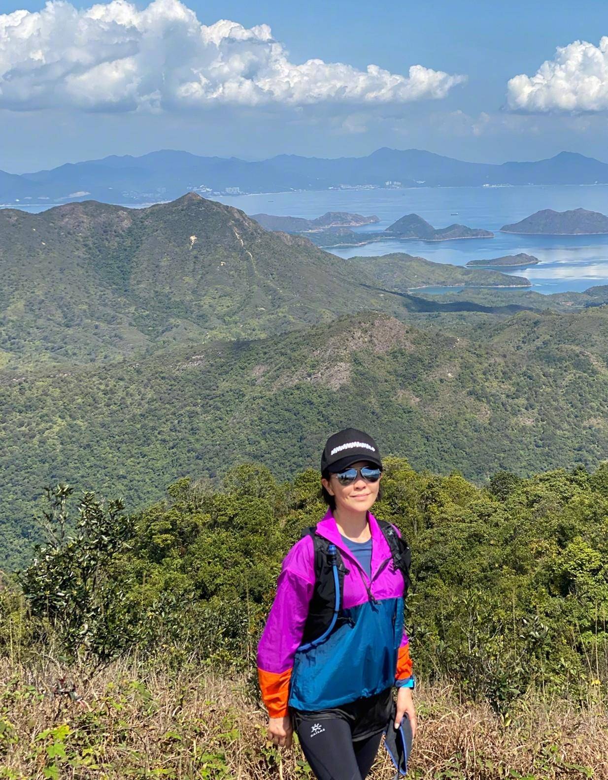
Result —
[[[606,464],[476,488],[385,457],[382,479],[375,514],[412,548],[412,776],[606,780]],[[244,464],[135,514],[48,498],[44,547],[0,591],[4,776],[309,776],[265,744],[254,654],[318,472]]]

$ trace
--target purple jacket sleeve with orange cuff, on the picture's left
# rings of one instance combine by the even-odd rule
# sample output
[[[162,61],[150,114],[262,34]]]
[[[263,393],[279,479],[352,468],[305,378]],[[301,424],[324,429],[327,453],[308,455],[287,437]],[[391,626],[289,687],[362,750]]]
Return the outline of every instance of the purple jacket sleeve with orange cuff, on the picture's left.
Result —
[[[302,642],[314,589],[313,544],[311,537],[304,537],[283,561],[276,597],[258,645],[261,697],[271,718],[287,714],[293,657]]]

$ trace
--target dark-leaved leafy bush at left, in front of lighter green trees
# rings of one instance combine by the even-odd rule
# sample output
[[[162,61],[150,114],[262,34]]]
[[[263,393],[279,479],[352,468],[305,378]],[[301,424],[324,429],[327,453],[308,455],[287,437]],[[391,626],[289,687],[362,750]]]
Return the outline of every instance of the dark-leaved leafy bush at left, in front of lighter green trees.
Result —
[[[132,536],[131,520],[122,502],[108,502],[106,508],[87,492],[72,533],[66,509],[72,493],[66,484],[47,488],[46,543],[19,582],[39,640],[52,636],[69,660],[107,663],[136,637],[128,583],[113,576],[113,564]]]

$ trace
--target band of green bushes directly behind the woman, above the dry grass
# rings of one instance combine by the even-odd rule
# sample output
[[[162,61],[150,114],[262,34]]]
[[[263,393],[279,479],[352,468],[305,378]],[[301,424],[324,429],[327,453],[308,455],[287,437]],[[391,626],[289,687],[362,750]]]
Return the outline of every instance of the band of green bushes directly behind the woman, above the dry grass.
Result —
[[[384,461],[373,511],[411,546],[406,626],[418,679],[449,682],[500,715],[531,689],[581,704],[593,686],[605,696],[606,464],[526,480],[501,472],[477,488],[459,473]],[[79,533],[66,537],[76,497]],[[91,665],[140,647],[155,668],[194,662],[198,673],[201,661],[254,667],[281,560],[325,512],[318,471],[283,481],[251,463],[216,488],[178,480],[134,515],[63,487],[50,498],[48,544],[19,578],[30,607],[20,632],[46,642],[52,629],[66,658]],[[0,651],[20,610],[0,612]]]

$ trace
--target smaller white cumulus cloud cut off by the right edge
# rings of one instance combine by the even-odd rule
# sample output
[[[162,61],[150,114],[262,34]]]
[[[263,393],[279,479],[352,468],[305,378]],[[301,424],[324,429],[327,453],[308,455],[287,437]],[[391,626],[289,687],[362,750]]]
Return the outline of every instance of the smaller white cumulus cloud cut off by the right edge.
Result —
[[[587,41],[558,46],[534,76],[514,76],[507,85],[507,105],[525,112],[608,110],[608,36],[599,46]]]

